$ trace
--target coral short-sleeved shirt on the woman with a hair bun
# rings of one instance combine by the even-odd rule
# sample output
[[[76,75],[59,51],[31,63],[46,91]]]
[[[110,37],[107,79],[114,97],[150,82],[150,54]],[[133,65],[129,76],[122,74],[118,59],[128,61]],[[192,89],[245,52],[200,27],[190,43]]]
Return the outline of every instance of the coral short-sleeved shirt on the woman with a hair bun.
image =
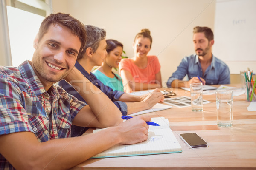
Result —
[[[157,83],[156,74],[160,71],[161,68],[159,60],[157,56],[147,57],[148,65],[143,69],[135,65],[132,59],[121,59],[119,63],[119,71],[122,69],[129,71],[135,82],[146,84]]]

